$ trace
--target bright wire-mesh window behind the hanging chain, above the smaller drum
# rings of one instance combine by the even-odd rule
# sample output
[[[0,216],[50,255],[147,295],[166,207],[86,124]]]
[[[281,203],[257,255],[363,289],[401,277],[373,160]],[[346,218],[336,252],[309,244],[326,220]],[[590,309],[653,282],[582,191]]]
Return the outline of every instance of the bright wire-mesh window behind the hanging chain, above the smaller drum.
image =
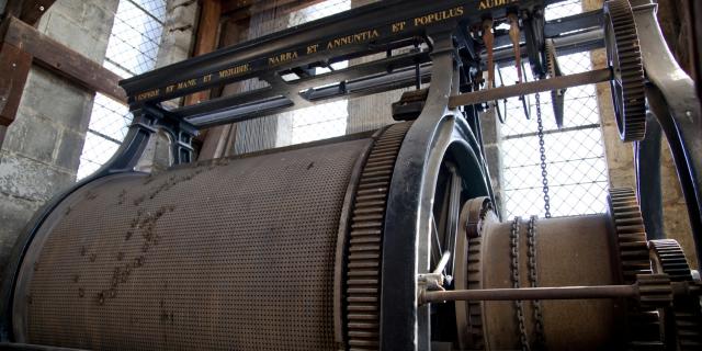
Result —
[[[546,20],[582,12],[581,1],[565,1],[546,9]],[[564,75],[592,68],[589,53],[558,57]],[[529,65],[523,71],[532,80]],[[517,81],[514,67],[500,67],[506,84]],[[564,124],[557,128],[550,93],[541,93],[544,131],[545,179],[553,216],[605,211],[607,165],[595,86],[568,88],[565,93]],[[535,95],[507,101],[507,121],[501,125],[502,189],[505,215],[545,215],[541,152]],[[505,107],[502,102],[499,105]],[[524,105],[529,106],[524,109]],[[526,111],[525,111],[526,110]],[[526,118],[529,113],[530,118]]]

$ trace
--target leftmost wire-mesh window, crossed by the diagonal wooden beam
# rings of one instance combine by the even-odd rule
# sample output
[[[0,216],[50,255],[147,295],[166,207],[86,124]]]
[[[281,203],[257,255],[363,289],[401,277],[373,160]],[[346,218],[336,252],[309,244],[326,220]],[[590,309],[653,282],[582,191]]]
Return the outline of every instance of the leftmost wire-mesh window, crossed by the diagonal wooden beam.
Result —
[[[165,21],[166,0],[121,0],[103,67],[123,78],[154,69]],[[127,106],[95,94],[78,179],[90,176],[114,155],[131,123]]]

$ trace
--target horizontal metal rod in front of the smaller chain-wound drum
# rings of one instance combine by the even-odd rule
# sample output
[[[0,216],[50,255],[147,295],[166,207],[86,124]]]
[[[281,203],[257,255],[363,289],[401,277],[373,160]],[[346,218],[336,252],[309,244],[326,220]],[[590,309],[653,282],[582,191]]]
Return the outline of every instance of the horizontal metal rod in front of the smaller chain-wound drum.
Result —
[[[424,292],[422,303],[445,301],[514,301],[514,299],[586,299],[635,297],[636,285],[559,286],[521,288],[483,288],[445,292]]]

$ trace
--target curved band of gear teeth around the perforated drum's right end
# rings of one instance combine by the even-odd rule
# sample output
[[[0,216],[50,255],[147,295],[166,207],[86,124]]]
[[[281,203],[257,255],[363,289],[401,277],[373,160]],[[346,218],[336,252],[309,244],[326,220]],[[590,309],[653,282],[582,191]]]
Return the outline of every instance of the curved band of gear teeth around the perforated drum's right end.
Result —
[[[347,241],[347,340],[349,350],[378,350],[381,254],[385,203],[397,154],[411,123],[387,127],[365,161],[353,200]]]

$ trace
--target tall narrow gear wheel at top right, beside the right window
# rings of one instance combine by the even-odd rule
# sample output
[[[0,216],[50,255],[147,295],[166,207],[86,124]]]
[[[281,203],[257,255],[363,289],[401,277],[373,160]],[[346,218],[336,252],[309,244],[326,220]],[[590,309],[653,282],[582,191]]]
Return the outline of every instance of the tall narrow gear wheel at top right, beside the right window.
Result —
[[[604,41],[611,80],[616,126],[624,141],[642,140],[646,134],[644,66],[636,23],[629,0],[607,1]]]

